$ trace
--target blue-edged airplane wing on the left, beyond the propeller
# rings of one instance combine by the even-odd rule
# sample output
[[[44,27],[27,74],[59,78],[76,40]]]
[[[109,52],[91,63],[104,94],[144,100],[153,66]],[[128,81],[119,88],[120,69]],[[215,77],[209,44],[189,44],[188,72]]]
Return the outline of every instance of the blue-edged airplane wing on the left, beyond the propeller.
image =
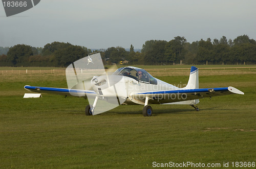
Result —
[[[77,90],[77,89],[65,89],[65,88],[54,88],[54,87],[37,87],[37,86],[24,86],[26,90],[34,91],[38,93],[50,93],[50,94],[61,94],[61,95],[72,95],[78,97],[87,98],[87,95],[96,95],[94,90]]]

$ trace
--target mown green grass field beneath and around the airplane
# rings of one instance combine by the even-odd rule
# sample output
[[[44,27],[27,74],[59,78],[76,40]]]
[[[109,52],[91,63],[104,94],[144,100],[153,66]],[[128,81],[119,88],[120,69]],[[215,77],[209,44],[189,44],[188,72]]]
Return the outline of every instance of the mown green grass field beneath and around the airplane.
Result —
[[[165,69],[165,67],[164,67]],[[189,70],[151,72],[186,84]],[[85,116],[87,100],[42,94],[25,85],[67,87],[65,75],[0,74],[0,168],[144,168],[156,163],[256,162],[256,70],[199,70],[200,87],[233,86],[233,94],[186,105],[119,106]],[[221,76],[219,76],[221,75]],[[253,168],[253,167],[251,167]]]

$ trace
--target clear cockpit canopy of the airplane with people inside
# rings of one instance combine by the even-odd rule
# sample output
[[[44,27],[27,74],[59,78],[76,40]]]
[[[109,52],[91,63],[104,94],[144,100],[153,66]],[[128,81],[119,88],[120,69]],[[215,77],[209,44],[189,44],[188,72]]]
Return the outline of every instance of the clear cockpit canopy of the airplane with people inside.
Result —
[[[148,74],[146,70],[137,67],[121,67],[113,75],[127,76],[139,82],[157,85],[157,80],[153,76]]]

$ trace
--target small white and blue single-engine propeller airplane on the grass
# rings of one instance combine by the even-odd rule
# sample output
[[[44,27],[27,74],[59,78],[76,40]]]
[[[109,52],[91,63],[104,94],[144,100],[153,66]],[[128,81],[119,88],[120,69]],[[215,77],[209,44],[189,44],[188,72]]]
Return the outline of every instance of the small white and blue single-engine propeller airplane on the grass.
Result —
[[[98,58],[98,60],[97,60]],[[93,63],[94,64],[89,64]],[[96,60],[96,61],[95,61]],[[79,61],[79,60],[78,60]],[[88,61],[88,64],[86,64]],[[226,94],[244,94],[234,87],[199,88],[198,68],[191,67],[188,83],[179,88],[151,76],[146,70],[126,66],[118,68],[113,74],[105,73],[100,54],[91,55],[82,61],[72,63],[66,69],[69,88],[24,86],[25,89],[40,93],[73,95],[86,98],[86,115],[95,115],[117,107],[120,104],[144,105],[143,115],[152,116],[150,104],[190,105],[199,111],[199,99]],[[102,62],[102,61],[101,61]],[[87,65],[87,69],[81,69]],[[95,66],[93,67],[88,66]],[[97,70],[97,71],[96,71]],[[70,76],[69,76],[70,75]]]

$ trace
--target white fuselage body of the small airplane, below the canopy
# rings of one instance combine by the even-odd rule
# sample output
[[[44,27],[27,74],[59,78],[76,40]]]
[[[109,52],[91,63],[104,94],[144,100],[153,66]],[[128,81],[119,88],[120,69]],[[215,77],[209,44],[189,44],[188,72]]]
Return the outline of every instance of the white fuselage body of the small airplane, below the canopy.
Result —
[[[96,82],[95,79],[97,78]],[[156,78],[155,78],[156,79]],[[133,95],[136,93],[147,91],[161,91],[161,90],[178,90],[179,87],[163,82],[159,79],[157,84],[150,84],[137,81],[133,78],[112,75],[104,77],[94,77],[92,79],[93,89],[99,95],[104,95],[102,99],[109,103],[116,103],[116,99],[120,104],[140,104],[144,105],[145,98],[135,99]]]

